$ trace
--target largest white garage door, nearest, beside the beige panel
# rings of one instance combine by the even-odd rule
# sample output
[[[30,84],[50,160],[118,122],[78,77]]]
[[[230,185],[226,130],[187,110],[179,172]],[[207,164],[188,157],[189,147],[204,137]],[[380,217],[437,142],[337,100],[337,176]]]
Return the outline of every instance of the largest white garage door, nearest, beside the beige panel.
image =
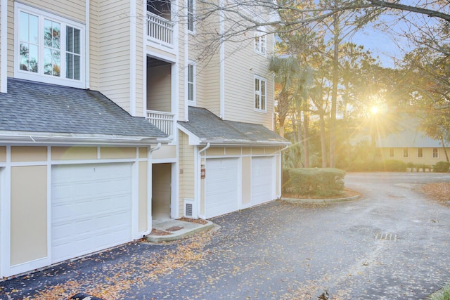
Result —
[[[51,261],[131,240],[131,163],[51,169]]]

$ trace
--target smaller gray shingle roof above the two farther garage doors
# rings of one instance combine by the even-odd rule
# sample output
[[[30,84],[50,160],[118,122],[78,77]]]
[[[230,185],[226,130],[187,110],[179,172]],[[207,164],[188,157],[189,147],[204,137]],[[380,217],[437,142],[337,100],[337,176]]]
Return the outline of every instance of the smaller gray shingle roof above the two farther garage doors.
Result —
[[[202,107],[189,107],[189,122],[178,122],[203,143],[288,145],[290,142],[259,124],[224,121]]]

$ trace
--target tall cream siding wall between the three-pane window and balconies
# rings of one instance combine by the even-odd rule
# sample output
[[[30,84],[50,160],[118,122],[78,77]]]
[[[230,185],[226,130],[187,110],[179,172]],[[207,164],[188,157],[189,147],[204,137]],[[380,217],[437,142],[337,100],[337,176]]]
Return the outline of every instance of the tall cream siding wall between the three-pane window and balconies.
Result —
[[[98,3],[98,89],[129,112],[129,2]]]

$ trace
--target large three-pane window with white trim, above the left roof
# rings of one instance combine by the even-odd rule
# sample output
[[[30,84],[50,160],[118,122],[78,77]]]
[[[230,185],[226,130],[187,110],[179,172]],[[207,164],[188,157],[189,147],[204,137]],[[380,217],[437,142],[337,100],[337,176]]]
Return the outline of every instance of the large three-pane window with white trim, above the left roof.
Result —
[[[15,77],[84,87],[84,25],[15,3]]]

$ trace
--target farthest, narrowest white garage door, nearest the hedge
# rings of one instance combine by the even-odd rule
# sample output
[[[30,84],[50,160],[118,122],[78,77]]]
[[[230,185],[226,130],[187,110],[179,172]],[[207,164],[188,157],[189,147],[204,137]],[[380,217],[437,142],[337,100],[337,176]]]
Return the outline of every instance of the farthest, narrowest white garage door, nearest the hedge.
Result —
[[[252,157],[252,205],[274,200],[274,158]]]

